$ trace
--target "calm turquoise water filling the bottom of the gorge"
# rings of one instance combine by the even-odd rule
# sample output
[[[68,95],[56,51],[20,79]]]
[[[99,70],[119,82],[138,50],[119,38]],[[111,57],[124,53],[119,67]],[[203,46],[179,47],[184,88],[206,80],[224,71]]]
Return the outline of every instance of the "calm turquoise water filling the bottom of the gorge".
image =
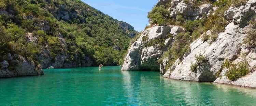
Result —
[[[162,78],[120,67],[0,79],[0,106],[255,106],[256,89]]]

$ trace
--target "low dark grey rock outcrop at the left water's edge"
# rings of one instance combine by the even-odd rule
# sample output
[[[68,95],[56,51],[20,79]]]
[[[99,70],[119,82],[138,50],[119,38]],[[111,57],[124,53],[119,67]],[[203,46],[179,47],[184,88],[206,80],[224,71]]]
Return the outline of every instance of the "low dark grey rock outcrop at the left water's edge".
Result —
[[[40,67],[20,55],[9,53],[5,56],[5,60],[0,63],[0,78],[43,74],[44,72]]]

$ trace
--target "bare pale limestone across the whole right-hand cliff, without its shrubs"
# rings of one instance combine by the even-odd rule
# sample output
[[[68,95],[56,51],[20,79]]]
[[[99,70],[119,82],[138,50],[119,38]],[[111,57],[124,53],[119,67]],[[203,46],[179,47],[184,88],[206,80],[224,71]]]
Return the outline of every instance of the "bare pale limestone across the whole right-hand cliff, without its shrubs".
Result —
[[[168,3],[170,3],[171,6],[167,6]],[[184,1],[181,0],[159,0],[156,6],[160,5],[165,5],[169,8],[168,10],[171,12],[171,17],[176,17],[176,13],[179,13],[179,15],[182,15],[185,19],[192,21],[201,19],[204,14],[207,16],[210,14],[215,14],[214,11],[217,8],[213,7],[212,4],[203,4],[199,7],[193,8],[193,5],[185,4]],[[140,70],[142,67],[141,64],[149,63],[147,66],[160,66],[160,73],[163,74],[163,77],[170,79],[256,87],[256,49],[249,48],[245,44],[245,39],[248,36],[248,32],[252,30],[252,27],[250,24],[248,24],[248,22],[254,18],[256,14],[255,8],[256,0],[248,0],[241,6],[231,5],[229,9],[224,12],[224,18],[227,20],[225,30],[217,34],[216,40],[211,43],[205,41],[204,36],[212,35],[213,29],[206,31],[201,37],[189,45],[190,50],[183,56],[182,60],[177,59],[169,67],[167,67],[167,64],[169,64],[170,58],[164,58],[161,61],[162,63],[154,64],[151,64],[151,61],[145,62],[145,60],[143,60],[144,56],[142,53],[144,49],[141,39],[143,36],[145,36],[143,34],[152,28],[146,29],[141,37],[131,45],[122,69]],[[156,35],[157,34],[158,33],[156,33]],[[171,31],[169,31],[169,34],[171,34]],[[175,41],[175,39],[173,39],[173,41]],[[168,46],[171,47],[171,43]],[[155,47],[156,46],[152,46],[152,48]],[[158,54],[157,57],[151,58],[151,60],[157,61],[159,57],[162,56],[163,51],[165,50],[161,49],[154,53],[148,52],[147,55],[152,56],[154,54]],[[197,62],[196,56],[204,56],[206,61],[195,67],[197,71],[193,71],[191,67]],[[232,63],[239,63],[247,60],[249,64],[249,72],[246,76],[243,76],[236,81],[231,81],[226,75],[228,69],[223,67],[226,60],[231,60]]]

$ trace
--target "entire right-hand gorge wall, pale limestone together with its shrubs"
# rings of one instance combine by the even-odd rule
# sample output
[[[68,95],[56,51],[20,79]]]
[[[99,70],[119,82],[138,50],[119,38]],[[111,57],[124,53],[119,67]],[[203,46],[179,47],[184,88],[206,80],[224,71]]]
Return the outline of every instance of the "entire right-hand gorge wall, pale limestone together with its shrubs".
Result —
[[[256,0],[238,0],[240,4],[220,2],[223,1],[201,1],[201,4],[197,5],[198,3],[189,0],[159,0],[154,8],[167,9],[167,20],[176,22],[166,21],[166,26],[161,26],[160,22],[154,22],[154,19],[150,18],[151,28],[145,29],[139,39],[131,44],[122,70],[143,70],[146,67],[147,70],[160,71],[163,77],[170,79],[256,87],[256,48],[248,45],[248,42],[254,44],[255,40],[247,40],[253,36],[250,32],[255,33],[255,21],[251,20],[255,20]],[[185,21],[180,21],[180,17]],[[193,30],[187,27],[189,23],[198,21],[203,21],[203,24],[197,25]],[[209,23],[212,26],[208,25]],[[211,27],[208,28],[209,26]],[[174,27],[179,27],[179,31]],[[157,31],[158,28],[167,29],[163,33],[162,30]],[[200,36],[195,36],[198,30],[201,30],[198,34]],[[190,35],[185,40],[180,39],[179,34],[183,37]],[[169,36],[165,37],[167,35]],[[147,47],[143,43],[146,36],[149,38],[146,42],[161,38],[164,40]],[[181,46],[181,50],[176,47],[176,44],[187,41],[187,47]],[[163,48],[159,48],[162,42]],[[178,53],[184,52],[179,56],[175,50],[178,50]],[[244,70],[246,74],[239,77],[234,73]]]

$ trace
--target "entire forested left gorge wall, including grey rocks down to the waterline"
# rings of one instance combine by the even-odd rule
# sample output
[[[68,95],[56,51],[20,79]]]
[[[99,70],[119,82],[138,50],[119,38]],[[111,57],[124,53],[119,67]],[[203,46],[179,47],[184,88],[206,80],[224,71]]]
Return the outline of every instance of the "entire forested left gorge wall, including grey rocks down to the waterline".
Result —
[[[80,0],[0,1],[0,78],[122,64],[138,32]]]

